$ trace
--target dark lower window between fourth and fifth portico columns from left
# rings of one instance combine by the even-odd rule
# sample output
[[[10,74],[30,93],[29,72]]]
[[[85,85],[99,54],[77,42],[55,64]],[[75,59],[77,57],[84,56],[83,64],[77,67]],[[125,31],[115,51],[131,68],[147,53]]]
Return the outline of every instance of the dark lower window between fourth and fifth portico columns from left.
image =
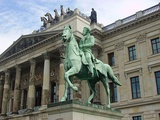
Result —
[[[42,87],[36,87],[36,98],[35,98],[35,106],[41,106],[41,97],[42,97]]]

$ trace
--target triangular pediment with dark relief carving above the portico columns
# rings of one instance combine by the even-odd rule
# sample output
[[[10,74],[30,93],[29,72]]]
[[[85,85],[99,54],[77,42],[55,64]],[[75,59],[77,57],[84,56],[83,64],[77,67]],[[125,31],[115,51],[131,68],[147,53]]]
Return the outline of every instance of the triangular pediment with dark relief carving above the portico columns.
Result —
[[[18,52],[21,52],[29,47],[32,47],[35,44],[39,44],[42,41],[45,41],[47,38],[59,34],[61,30],[50,31],[50,32],[41,32],[35,34],[22,35],[18,40],[16,40],[6,51],[0,55],[0,59],[7,58]]]

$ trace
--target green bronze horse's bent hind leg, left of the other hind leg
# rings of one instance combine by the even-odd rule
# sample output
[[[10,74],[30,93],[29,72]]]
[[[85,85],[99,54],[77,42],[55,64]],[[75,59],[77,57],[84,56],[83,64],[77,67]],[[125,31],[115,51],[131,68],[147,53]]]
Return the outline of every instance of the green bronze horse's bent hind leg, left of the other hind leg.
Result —
[[[93,97],[96,94],[95,83],[93,84],[90,81],[92,81],[92,80],[87,80],[88,86],[89,86],[90,90],[92,91],[92,94],[88,97],[88,101],[87,101],[88,103],[91,103],[91,100],[93,99]]]

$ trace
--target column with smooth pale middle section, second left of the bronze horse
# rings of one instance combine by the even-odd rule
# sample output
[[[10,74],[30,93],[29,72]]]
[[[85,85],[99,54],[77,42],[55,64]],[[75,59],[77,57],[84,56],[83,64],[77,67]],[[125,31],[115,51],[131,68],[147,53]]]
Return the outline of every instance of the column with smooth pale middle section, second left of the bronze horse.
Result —
[[[50,57],[48,53],[44,55],[44,70],[43,70],[43,88],[42,88],[42,107],[49,103],[49,82],[50,82]]]

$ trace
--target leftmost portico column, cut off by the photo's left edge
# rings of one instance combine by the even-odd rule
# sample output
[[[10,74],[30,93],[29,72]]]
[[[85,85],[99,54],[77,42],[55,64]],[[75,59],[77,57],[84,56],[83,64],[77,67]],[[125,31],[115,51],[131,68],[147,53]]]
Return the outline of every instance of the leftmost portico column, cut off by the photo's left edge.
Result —
[[[2,109],[3,85],[4,85],[4,76],[1,75],[1,78],[0,78],[0,113]]]

